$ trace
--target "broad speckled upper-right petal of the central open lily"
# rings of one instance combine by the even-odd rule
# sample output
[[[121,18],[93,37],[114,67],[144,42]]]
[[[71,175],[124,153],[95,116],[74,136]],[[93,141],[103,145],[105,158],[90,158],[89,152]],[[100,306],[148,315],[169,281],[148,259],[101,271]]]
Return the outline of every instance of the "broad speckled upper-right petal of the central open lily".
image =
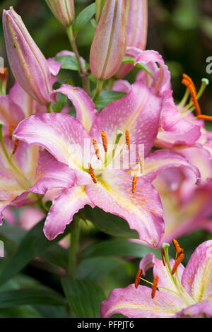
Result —
[[[90,136],[100,143],[101,133],[105,131],[108,143],[114,144],[117,130],[123,133],[128,130],[131,144],[143,144],[147,155],[158,134],[161,102],[153,90],[138,81],[131,85],[126,96],[102,110],[90,130]],[[119,144],[124,140],[122,136]]]

